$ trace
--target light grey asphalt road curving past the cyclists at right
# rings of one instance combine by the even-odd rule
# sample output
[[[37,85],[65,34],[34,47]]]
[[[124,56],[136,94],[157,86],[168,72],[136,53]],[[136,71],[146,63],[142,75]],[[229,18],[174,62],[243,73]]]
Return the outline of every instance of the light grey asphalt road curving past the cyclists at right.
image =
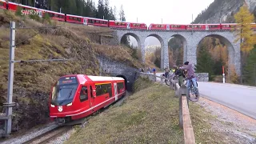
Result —
[[[157,73],[158,76],[163,73]],[[160,81],[160,78],[158,79]],[[256,119],[256,87],[198,82],[200,95]]]

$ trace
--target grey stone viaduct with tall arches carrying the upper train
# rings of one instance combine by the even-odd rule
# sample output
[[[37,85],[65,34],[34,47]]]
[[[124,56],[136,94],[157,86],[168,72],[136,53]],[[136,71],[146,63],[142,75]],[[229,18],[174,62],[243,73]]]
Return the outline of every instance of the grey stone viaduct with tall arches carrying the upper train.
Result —
[[[129,29],[114,29],[118,42],[125,35],[133,36],[137,42],[138,47],[142,51],[142,61],[145,62],[145,46],[144,42],[147,37],[153,36],[158,38],[161,43],[161,68],[169,66],[168,42],[171,37],[179,38],[183,42],[183,61],[197,64],[197,47],[198,44],[206,37],[214,37],[220,39],[228,47],[229,52],[229,66],[232,64],[238,75],[241,74],[240,65],[240,42],[234,43],[234,32],[226,30],[129,30]]]

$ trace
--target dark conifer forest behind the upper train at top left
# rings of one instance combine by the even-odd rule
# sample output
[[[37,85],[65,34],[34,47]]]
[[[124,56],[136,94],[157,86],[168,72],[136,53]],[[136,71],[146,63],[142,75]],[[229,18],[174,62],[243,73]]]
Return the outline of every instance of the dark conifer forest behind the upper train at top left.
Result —
[[[95,5],[93,0],[10,0],[9,2],[22,3],[23,5],[64,14],[126,21],[122,6],[117,12],[116,6],[114,8],[110,6],[109,0],[98,0],[98,6]]]

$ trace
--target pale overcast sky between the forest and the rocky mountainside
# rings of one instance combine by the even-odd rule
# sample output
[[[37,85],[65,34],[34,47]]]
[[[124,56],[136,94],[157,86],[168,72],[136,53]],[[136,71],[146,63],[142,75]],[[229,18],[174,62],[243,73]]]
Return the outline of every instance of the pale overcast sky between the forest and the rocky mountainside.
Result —
[[[98,0],[95,0],[98,2]],[[192,14],[195,18],[214,0],[110,0],[110,6],[121,5],[126,14],[126,22],[189,24]],[[117,15],[118,16],[118,15]]]

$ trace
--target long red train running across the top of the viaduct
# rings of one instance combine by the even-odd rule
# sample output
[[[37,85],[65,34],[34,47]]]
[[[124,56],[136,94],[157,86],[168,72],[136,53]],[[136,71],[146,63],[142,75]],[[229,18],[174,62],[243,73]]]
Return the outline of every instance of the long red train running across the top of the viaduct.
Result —
[[[146,26],[145,23],[138,22],[117,22],[106,19],[99,18],[89,18],[82,17],[78,15],[71,14],[62,14],[50,10],[42,10],[38,8],[34,8],[31,6],[25,6],[21,4],[17,4],[14,2],[6,2],[4,0],[0,0],[0,9],[12,10],[16,11],[18,6],[22,7],[22,12],[29,14],[30,10],[34,10],[38,12],[40,17],[45,16],[45,14],[49,14],[50,18],[62,21],[62,22],[73,22],[82,25],[89,26],[105,26],[105,27],[114,27],[114,28],[122,28],[122,29],[136,29],[136,30],[232,30],[237,25],[236,23],[222,23],[222,24],[189,24],[189,25],[179,25],[179,24],[154,24],[151,23],[149,27]],[[256,24],[252,24],[253,29],[256,30]]]

